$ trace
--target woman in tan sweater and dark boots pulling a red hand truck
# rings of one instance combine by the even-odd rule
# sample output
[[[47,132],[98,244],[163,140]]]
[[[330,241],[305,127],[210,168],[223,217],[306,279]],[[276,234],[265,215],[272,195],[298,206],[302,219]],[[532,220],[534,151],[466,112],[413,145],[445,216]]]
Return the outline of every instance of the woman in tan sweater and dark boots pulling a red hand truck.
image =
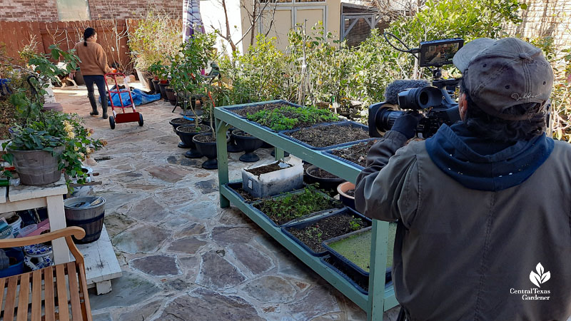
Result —
[[[89,97],[89,103],[91,103],[91,108],[93,111],[89,113],[91,116],[98,115],[97,111],[97,101],[94,95],[94,83],[97,85],[99,91],[99,97],[101,97],[101,108],[103,109],[103,119],[107,118],[107,95],[105,88],[105,75],[111,71],[111,68],[107,66],[107,56],[103,51],[103,47],[97,44],[97,33],[95,29],[88,28],[84,31],[84,41],[78,42],[74,49],[76,50],[77,56],[81,60],[79,63],[79,69],[81,74],[84,76],[85,85],[87,86],[87,96]],[[72,78],[75,76],[75,72],[71,73]]]

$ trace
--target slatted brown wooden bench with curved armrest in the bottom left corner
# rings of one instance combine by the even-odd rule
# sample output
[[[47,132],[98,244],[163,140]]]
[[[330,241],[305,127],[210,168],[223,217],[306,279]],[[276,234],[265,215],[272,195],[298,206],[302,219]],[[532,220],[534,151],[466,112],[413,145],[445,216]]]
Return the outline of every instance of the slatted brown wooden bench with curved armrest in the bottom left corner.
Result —
[[[15,248],[65,238],[69,251],[75,258],[73,262],[0,278],[0,304],[6,300],[2,310],[4,320],[12,321],[14,317],[16,321],[91,320],[84,256],[77,249],[71,235],[81,239],[84,238],[85,231],[74,226],[29,238],[0,240],[0,248]]]

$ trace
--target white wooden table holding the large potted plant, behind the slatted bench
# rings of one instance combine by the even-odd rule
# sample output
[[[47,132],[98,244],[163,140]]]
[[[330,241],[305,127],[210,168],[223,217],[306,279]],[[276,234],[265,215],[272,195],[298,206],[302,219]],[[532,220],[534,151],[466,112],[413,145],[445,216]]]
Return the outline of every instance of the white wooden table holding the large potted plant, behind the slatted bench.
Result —
[[[66,227],[64,194],[67,194],[66,180],[62,175],[56,183],[43,186],[18,185],[0,188],[0,213],[33,208],[48,208],[50,230]],[[68,263],[69,250],[66,240],[51,241],[54,248],[54,263]]]

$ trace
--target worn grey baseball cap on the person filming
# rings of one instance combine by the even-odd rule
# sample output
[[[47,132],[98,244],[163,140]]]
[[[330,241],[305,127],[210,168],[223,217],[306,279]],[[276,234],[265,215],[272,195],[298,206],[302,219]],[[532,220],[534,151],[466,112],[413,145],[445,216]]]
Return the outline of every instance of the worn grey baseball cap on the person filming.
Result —
[[[455,54],[453,63],[464,74],[472,101],[497,118],[530,118],[537,109],[524,115],[503,111],[522,103],[544,104],[553,88],[553,71],[541,49],[521,39],[475,39]]]

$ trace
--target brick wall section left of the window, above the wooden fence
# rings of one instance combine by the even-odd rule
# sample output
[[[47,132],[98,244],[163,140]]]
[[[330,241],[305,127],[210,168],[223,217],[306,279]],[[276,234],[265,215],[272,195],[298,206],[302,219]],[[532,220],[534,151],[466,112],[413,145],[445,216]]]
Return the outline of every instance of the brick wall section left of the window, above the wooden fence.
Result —
[[[0,0],[0,21],[58,21],[56,0]]]

